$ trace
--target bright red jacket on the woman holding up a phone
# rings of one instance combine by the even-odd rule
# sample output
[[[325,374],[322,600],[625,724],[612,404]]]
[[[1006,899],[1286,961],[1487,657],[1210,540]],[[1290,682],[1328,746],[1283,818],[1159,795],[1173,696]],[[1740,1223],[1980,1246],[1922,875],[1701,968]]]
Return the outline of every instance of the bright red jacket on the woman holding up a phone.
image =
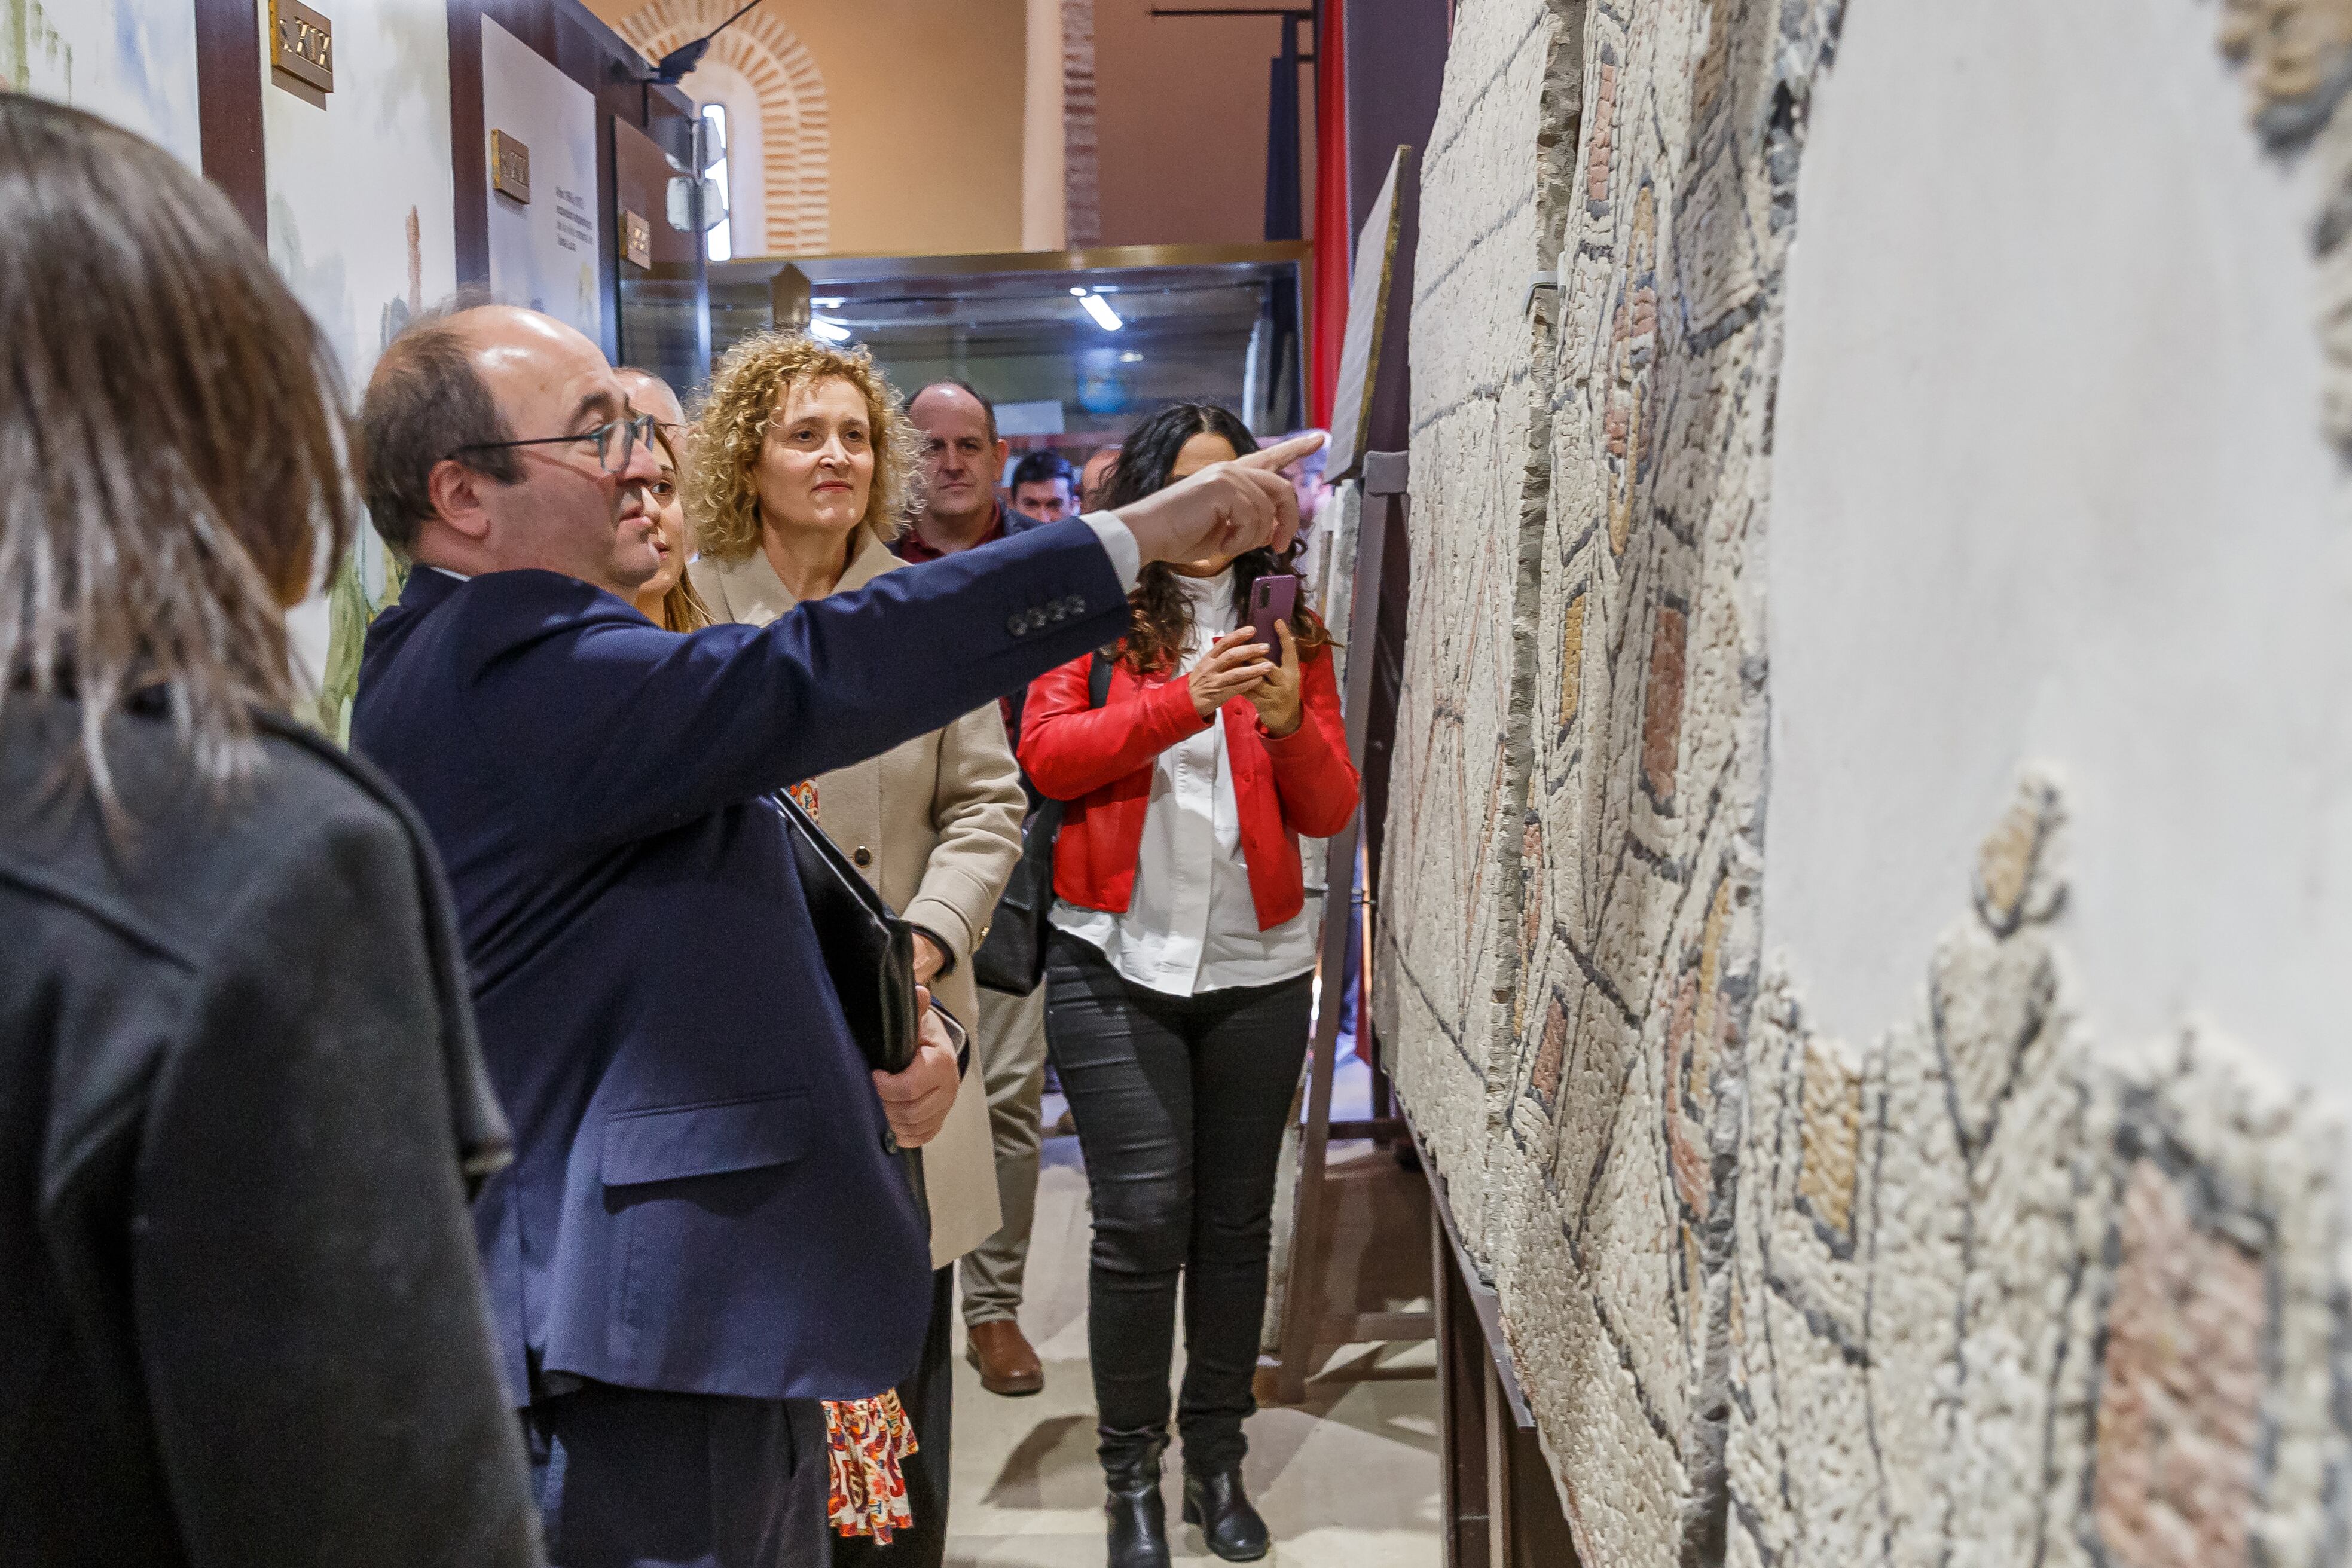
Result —
[[[1070,802],[1054,846],[1054,891],[1087,910],[1124,914],[1136,893],[1152,759],[1207,722],[1192,712],[1192,689],[1181,675],[1138,677],[1124,663],[1110,668],[1103,708],[1089,710],[1089,658],[1073,658],[1030,684],[1021,766],[1042,792]],[[1298,729],[1287,736],[1265,733],[1247,696],[1225,703],[1232,802],[1261,931],[1305,907],[1298,835],[1331,837],[1348,825],[1357,799],[1329,651],[1305,658],[1298,696]]]

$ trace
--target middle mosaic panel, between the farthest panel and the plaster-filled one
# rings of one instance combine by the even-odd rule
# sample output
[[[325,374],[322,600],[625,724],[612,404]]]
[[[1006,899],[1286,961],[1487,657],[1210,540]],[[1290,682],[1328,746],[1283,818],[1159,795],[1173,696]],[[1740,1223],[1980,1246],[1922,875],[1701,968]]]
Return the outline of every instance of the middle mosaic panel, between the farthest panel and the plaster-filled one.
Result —
[[[1595,5],[1489,1232],[1597,1563],[1712,1561],[1780,277],[1837,7]]]

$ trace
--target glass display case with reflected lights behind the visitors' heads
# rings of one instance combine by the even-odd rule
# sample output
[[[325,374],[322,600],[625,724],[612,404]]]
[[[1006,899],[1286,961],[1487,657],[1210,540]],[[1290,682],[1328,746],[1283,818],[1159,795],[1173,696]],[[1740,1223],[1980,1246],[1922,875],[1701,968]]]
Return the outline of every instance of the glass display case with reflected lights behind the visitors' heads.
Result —
[[[1152,244],[1002,256],[710,263],[710,353],[807,324],[913,390],[957,378],[1018,449],[1094,449],[1171,402],[1258,435],[1298,425],[1305,244]]]

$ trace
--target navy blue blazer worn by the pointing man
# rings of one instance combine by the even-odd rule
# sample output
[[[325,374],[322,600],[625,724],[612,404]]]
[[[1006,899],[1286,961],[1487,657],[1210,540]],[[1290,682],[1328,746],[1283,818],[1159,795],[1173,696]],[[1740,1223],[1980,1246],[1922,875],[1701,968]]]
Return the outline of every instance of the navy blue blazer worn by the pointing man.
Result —
[[[1124,630],[1077,520],[689,637],[553,571],[409,574],[350,741],[456,891],[515,1131],[475,1201],[515,1403],[569,1378],[863,1399],[913,1373],[922,1213],[767,795]]]

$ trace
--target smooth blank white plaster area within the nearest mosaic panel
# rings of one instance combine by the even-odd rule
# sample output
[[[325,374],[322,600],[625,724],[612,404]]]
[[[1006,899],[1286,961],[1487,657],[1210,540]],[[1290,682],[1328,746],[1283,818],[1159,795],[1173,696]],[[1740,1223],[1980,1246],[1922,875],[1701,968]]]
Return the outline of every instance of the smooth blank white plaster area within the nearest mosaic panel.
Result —
[[[1846,14],[1813,96],[1769,527],[1764,943],[1907,1016],[2018,764],[2072,809],[2110,1041],[2199,1011],[2345,1098],[2352,522],[2314,179],[2197,0]]]

